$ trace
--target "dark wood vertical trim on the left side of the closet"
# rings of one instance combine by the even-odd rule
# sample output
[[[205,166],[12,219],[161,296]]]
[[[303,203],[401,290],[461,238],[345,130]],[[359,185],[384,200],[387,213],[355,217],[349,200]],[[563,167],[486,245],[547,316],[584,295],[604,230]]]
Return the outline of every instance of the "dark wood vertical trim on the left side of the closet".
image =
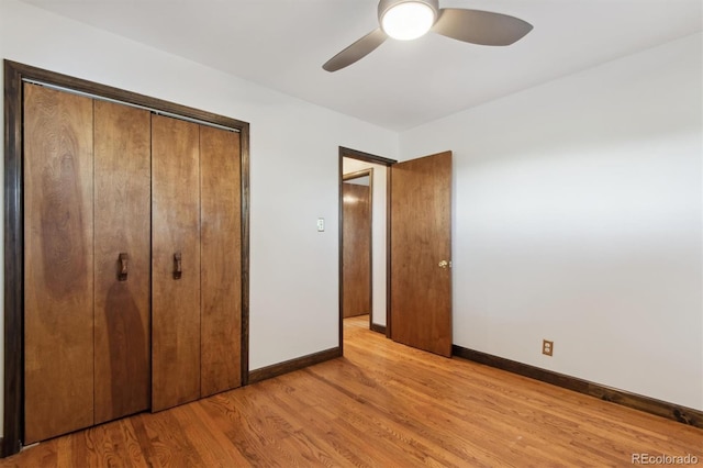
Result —
[[[4,63],[4,376],[2,457],[21,448],[23,413],[22,73]]]

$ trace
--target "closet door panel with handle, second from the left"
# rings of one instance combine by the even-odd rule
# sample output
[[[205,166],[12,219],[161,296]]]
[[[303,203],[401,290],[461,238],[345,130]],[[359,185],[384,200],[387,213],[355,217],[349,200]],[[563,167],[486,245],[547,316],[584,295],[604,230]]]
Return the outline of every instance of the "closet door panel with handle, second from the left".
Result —
[[[150,138],[148,111],[96,101],[96,424],[150,405]]]

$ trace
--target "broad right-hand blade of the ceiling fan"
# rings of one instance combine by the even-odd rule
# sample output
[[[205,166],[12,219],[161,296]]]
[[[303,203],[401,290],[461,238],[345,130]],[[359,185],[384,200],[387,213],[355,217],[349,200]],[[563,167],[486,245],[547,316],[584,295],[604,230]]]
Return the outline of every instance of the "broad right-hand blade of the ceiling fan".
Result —
[[[532,31],[532,24],[507,14],[443,8],[432,31],[480,45],[511,45]]]

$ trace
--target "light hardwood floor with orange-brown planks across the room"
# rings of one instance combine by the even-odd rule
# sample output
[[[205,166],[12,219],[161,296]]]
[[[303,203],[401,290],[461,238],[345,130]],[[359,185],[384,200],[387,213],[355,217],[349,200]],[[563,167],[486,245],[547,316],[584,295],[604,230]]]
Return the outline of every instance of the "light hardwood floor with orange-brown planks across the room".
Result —
[[[44,442],[0,467],[633,466],[703,431],[345,321],[345,357]]]

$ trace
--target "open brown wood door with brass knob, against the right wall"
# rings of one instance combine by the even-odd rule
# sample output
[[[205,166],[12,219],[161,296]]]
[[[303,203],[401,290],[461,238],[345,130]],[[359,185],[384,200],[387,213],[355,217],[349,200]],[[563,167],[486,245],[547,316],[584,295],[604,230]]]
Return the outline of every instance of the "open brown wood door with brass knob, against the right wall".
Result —
[[[451,152],[391,167],[391,338],[451,355]]]

